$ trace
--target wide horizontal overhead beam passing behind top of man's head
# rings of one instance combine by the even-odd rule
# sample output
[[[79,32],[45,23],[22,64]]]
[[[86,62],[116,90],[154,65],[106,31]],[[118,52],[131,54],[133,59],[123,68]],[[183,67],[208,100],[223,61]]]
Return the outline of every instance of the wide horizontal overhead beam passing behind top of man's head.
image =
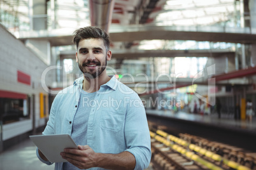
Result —
[[[68,31],[68,35],[67,35]],[[40,30],[40,32],[20,31],[19,39],[43,39],[50,41],[51,46],[72,45],[74,30]],[[70,34],[70,35],[69,35]],[[256,44],[256,34],[251,34],[250,29],[225,28],[225,27],[171,27],[155,25],[126,25],[125,27],[110,27],[112,42],[131,42],[152,39],[165,40],[192,40],[210,42],[234,42],[241,44]]]

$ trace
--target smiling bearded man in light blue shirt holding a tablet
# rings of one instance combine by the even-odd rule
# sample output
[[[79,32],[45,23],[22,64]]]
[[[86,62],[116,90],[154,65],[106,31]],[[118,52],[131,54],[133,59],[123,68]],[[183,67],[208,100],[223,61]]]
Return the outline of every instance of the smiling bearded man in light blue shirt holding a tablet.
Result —
[[[145,108],[134,91],[106,74],[108,34],[85,27],[73,42],[83,77],[55,97],[43,134],[68,133],[78,149],[61,152],[68,162],[55,169],[145,169],[151,158]],[[37,155],[52,164],[38,149]]]

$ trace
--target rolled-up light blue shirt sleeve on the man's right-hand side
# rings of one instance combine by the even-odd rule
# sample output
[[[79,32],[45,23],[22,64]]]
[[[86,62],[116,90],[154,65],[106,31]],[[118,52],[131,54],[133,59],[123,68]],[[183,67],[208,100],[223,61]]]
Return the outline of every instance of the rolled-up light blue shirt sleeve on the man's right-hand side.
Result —
[[[128,148],[125,151],[134,155],[135,169],[145,169],[150,164],[151,144],[145,108],[139,97],[127,105],[124,131]]]

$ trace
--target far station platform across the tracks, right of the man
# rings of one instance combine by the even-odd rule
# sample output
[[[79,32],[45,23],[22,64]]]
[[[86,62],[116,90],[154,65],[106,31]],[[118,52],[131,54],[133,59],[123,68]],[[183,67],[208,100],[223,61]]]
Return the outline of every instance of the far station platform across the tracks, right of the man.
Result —
[[[208,126],[218,126],[219,128],[232,129],[246,133],[256,134],[256,117],[252,121],[235,120],[234,115],[222,114],[218,119],[218,114],[191,114],[184,111],[174,113],[172,110],[146,110],[148,115],[159,115],[171,119],[179,119],[184,121],[206,124]]]

